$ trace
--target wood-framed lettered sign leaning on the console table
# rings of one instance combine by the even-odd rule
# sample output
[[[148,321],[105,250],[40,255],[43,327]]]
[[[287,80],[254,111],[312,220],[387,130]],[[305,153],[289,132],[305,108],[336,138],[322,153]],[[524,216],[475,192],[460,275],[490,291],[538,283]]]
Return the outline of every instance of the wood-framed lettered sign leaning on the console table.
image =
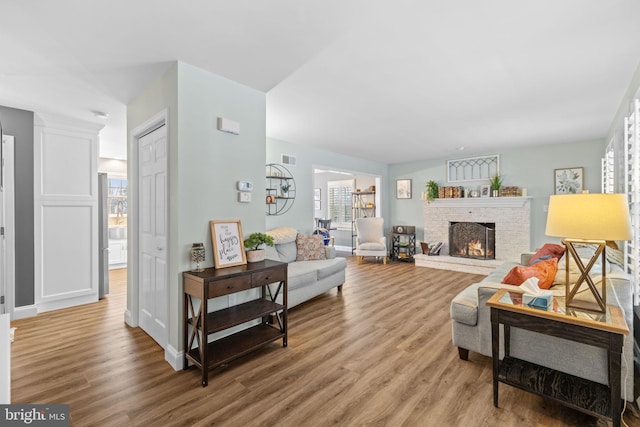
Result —
[[[213,266],[231,267],[247,263],[240,220],[211,220],[211,242],[213,243]]]

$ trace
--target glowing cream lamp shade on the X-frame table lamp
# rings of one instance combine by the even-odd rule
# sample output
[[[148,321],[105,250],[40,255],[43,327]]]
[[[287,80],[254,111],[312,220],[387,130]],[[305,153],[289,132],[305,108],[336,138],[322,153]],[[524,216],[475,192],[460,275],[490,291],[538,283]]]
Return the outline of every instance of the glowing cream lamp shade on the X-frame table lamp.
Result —
[[[631,219],[624,194],[557,194],[549,199],[547,236],[629,240]]]

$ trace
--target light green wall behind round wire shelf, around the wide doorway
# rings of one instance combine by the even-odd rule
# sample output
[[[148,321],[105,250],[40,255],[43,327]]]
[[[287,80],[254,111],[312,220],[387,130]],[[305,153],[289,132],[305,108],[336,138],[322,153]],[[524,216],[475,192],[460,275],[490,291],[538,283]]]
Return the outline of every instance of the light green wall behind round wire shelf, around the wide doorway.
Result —
[[[338,170],[378,175],[382,177],[383,183],[388,179],[388,166],[384,163],[372,162],[276,139],[267,139],[266,163],[281,163],[282,154],[296,156],[296,166],[287,165],[296,180],[296,200],[291,209],[283,215],[266,217],[265,225],[267,230],[285,226],[296,228],[303,233],[309,233],[313,230],[314,166],[330,166]],[[256,189],[255,192],[257,193],[257,191]],[[381,214],[383,217],[387,214],[386,203],[384,199],[381,202],[383,206]]]

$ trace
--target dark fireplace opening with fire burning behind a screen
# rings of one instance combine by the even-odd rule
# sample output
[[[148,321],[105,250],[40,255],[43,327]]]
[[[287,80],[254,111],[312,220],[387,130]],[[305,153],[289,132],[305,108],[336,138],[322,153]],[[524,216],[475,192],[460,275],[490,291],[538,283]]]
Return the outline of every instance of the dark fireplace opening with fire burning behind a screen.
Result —
[[[496,224],[450,222],[449,255],[462,258],[496,258]]]

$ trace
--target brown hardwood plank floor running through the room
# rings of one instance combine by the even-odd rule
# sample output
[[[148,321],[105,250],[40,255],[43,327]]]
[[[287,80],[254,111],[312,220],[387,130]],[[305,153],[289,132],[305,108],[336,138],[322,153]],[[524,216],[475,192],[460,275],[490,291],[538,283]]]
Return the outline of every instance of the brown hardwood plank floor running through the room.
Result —
[[[491,359],[459,360],[451,344],[449,302],[482,276],[348,262],[342,294],[290,311],[287,348],[217,369],[205,388],[125,325],[126,275],[113,271],[104,300],[12,323],[12,401],[69,404],[75,426],[606,425],[506,385],[493,407]]]

